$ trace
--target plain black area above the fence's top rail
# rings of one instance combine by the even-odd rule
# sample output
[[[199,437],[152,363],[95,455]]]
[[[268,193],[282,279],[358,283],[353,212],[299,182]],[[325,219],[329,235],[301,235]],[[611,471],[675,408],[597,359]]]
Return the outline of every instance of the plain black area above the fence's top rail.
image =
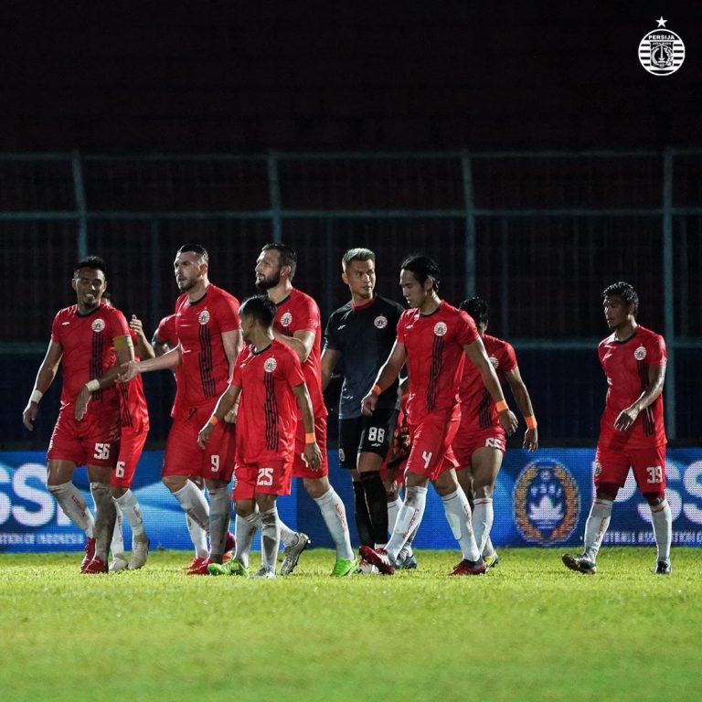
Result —
[[[689,0],[240,5],[3,3],[0,150],[702,143]],[[656,78],[661,15],[686,62]]]

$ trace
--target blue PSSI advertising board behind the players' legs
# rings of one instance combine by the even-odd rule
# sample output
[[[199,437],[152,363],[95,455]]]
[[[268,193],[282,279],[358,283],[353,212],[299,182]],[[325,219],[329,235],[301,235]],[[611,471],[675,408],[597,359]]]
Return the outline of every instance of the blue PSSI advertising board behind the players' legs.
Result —
[[[160,481],[162,459],[162,452],[144,452],[133,490],[142,506],[152,548],[189,549],[183,512]],[[536,455],[507,451],[495,488],[495,546],[579,544],[592,500],[593,461],[593,449],[541,449]],[[346,504],[352,540],[357,545],[350,477],[339,468],[337,452],[329,452],[329,464],[330,479]],[[702,449],[668,450],[665,474],[674,520],[674,546],[702,546]],[[58,509],[45,479],[43,452],[0,452],[0,551],[66,551],[83,547],[84,535]],[[88,505],[92,505],[83,469],[76,471],[74,482],[84,491]],[[293,481],[293,494],[281,498],[278,509],[289,527],[299,525],[312,537],[314,546],[332,546],[317,505],[299,481]],[[130,541],[125,525],[127,548]],[[653,543],[649,507],[631,474],[617,497],[604,543]],[[443,516],[441,498],[432,490],[415,546],[457,548]]]

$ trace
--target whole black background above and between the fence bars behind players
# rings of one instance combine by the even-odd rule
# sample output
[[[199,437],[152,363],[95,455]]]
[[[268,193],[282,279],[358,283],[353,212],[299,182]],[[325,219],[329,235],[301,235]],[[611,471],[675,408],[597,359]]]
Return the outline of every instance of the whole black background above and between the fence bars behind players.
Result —
[[[661,15],[686,44],[683,67],[665,78],[647,73],[637,56],[639,42]],[[694,2],[4,2],[0,154],[652,149],[653,156],[626,167],[587,155],[556,167],[488,158],[474,162],[475,193],[482,207],[658,207],[662,171],[656,154],[669,146],[702,145],[700,27],[702,5]],[[676,161],[682,171],[676,183],[682,185],[675,204],[699,205],[698,161],[686,163]],[[0,174],[0,211],[75,207],[69,162],[7,164]],[[154,165],[150,176],[131,162],[85,158],[88,207],[269,207],[265,161],[206,172],[184,165],[185,175],[166,165]],[[349,166],[347,180],[335,180],[344,172],[336,166],[307,171],[294,159],[282,163],[283,204],[463,207],[458,162],[413,166],[419,176],[407,176],[403,163],[378,161]],[[181,173],[175,183],[169,181],[173,173]],[[207,187],[197,190],[203,183]],[[424,183],[436,190],[422,190]],[[154,221],[93,218],[88,231],[90,251],[112,267],[117,304],[139,314],[149,333],[172,309],[176,289],[169,267],[186,239],[214,252],[214,282],[240,298],[253,292],[252,262],[271,239],[268,219],[162,220],[155,245]],[[399,261],[409,247],[430,250],[441,263],[447,299],[458,302],[463,229],[460,217],[388,224],[330,217],[286,220],[283,238],[302,252],[296,283],[314,294],[325,322],[346,299],[337,266],[350,246],[378,250],[378,290],[396,299]],[[48,441],[58,381],[33,435],[21,429],[19,414],[40,363],[37,345],[48,340],[55,311],[74,300],[68,282],[76,230],[69,220],[0,227],[0,271],[20,283],[0,313],[2,340],[16,345],[16,353],[0,355],[0,389],[8,399],[0,411],[0,446],[38,449]],[[675,239],[686,242],[675,250],[675,271],[686,271],[675,291],[677,332],[698,337],[702,219],[677,218],[675,236],[682,231],[685,239]],[[599,292],[620,277],[642,293],[640,321],[661,330],[659,218],[487,219],[477,235],[478,292],[493,304],[495,334],[600,338],[606,329]],[[335,250],[325,241],[333,241]],[[506,262],[511,285],[501,298],[493,272]],[[542,441],[593,443],[604,393],[594,344],[588,350],[517,352],[542,421]],[[678,353],[678,434],[687,442],[698,440],[694,415],[685,409],[697,404],[702,388],[697,357],[694,347]],[[545,377],[548,387],[539,382]],[[158,443],[168,427],[171,378],[150,374],[145,383],[151,436]]]

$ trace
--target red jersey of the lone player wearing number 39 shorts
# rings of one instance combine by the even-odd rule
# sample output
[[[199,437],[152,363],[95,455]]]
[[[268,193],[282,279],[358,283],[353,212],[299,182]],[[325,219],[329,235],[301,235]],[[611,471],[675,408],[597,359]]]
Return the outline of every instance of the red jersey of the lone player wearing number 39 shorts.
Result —
[[[644,449],[665,444],[663,395],[639,413],[628,431],[614,429],[619,413],[648,388],[649,367],[665,366],[667,354],[663,336],[639,324],[626,341],[617,341],[613,334],[602,339],[597,353],[608,386],[598,445],[611,449]]]

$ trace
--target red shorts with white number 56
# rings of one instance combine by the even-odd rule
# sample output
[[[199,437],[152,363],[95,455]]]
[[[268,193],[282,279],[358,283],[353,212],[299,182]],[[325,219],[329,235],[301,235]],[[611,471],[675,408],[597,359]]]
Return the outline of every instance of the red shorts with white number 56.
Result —
[[[74,411],[73,405],[68,405],[58,412],[48,442],[47,460],[112,468],[120,448],[119,412],[112,408],[110,411],[93,410],[78,421],[73,416]]]

